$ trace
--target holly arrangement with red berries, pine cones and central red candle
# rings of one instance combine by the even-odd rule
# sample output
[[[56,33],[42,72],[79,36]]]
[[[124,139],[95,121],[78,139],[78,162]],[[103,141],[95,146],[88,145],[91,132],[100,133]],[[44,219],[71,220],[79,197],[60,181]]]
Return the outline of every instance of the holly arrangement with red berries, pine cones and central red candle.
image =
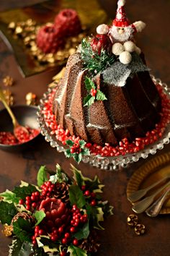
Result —
[[[102,187],[71,166],[73,179],[56,166],[52,173],[41,166],[37,186],[21,182],[11,192],[0,194],[3,233],[12,236],[9,255],[90,256],[99,243],[95,229],[112,215],[112,206],[102,201]]]

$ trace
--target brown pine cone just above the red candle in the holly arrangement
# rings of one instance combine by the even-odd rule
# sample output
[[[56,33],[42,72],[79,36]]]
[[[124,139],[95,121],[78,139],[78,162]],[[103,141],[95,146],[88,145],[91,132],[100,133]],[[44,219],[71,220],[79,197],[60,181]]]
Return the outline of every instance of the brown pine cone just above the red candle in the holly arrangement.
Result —
[[[69,201],[68,184],[65,182],[55,184],[55,192],[53,197],[61,199],[62,202]]]

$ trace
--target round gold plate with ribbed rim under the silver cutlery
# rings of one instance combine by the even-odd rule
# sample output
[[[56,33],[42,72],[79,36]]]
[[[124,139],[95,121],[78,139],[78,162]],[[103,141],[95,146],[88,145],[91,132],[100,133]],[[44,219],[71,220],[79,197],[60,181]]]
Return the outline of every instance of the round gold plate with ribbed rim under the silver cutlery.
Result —
[[[154,182],[164,178],[167,174],[170,174],[170,153],[158,155],[138,168],[128,182],[127,196],[129,197],[133,192],[150,186]],[[148,192],[147,196],[151,194]],[[170,213],[170,198],[160,211],[160,214],[168,213]]]

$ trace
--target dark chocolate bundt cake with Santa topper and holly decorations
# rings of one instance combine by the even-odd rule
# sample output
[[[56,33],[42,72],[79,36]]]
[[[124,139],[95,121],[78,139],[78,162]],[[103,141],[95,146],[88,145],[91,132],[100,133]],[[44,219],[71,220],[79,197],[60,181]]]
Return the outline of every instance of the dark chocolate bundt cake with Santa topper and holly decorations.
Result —
[[[124,5],[70,56],[53,99],[57,124],[98,145],[144,137],[160,120],[161,98],[133,39],[145,24],[130,25]]]

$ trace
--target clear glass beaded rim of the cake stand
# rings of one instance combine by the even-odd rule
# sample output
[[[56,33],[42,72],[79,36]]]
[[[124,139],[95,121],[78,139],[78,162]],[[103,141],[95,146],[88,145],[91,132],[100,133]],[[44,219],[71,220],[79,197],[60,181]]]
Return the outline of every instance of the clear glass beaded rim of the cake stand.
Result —
[[[170,98],[170,88],[161,82],[160,79],[156,79],[152,77],[153,82],[156,85],[161,85],[164,93]],[[46,127],[44,116],[42,114],[42,108],[44,104],[48,101],[48,95],[51,93],[51,89],[48,89],[47,93],[44,93],[42,99],[40,100],[40,105],[38,106],[37,116],[38,122],[40,124],[41,134],[45,136],[45,140],[50,142],[50,146],[52,148],[56,148],[59,153],[62,153],[66,150],[66,146],[64,146],[61,142],[56,140],[54,135],[50,134],[50,129]],[[150,145],[146,145],[143,150],[139,150],[136,153],[128,153],[125,155],[118,156],[101,156],[101,155],[84,155],[82,161],[84,163],[89,163],[92,166],[97,168],[104,169],[106,171],[117,171],[120,168],[126,168],[130,163],[137,162],[140,158],[148,158],[148,155],[155,155],[157,150],[161,150],[164,148],[165,144],[169,144],[170,140],[170,123],[167,124],[164,134],[160,139]]]

